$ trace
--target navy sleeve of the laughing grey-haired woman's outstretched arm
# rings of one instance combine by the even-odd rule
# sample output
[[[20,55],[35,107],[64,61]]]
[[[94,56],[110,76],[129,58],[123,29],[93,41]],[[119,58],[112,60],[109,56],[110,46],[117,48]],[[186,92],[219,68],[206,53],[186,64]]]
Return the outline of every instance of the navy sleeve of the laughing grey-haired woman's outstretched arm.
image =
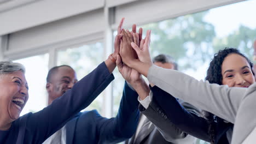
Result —
[[[33,134],[33,143],[42,143],[63,127],[70,118],[87,107],[113,79],[113,74],[109,73],[103,62],[51,105],[33,113],[27,121],[27,129]]]

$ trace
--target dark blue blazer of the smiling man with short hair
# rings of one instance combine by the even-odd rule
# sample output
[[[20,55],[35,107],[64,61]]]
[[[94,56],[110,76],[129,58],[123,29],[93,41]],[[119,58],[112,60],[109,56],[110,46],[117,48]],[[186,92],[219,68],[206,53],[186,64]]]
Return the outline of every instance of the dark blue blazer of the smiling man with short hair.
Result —
[[[125,82],[118,115],[104,118],[96,110],[78,113],[66,124],[66,141],[71,143],[118,143],[136,131],[139,111],[138,94]]]

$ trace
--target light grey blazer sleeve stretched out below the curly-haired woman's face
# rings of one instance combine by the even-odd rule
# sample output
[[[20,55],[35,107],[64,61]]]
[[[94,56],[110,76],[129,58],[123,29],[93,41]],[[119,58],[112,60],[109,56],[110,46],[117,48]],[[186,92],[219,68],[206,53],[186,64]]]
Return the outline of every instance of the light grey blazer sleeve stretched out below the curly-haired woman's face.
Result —
[[[246,88],[229,88],[197,81],[179,71],[156,65],[149,68],[148,80],[174,97],[231,123],[235,122],[236,112],[246,94]]]

